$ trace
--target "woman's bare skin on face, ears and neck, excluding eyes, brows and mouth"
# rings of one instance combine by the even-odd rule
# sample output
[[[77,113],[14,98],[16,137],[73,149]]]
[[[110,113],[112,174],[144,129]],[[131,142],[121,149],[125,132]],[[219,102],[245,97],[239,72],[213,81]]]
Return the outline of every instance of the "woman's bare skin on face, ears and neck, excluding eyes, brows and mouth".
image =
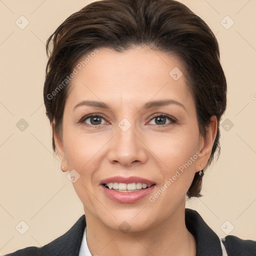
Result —
[[[195,240],[184,221],[185,195],[194,173],[210,156],[216,117],[211,117],[203,138],[177,57],[146,46],[123,52],[98,50],[72,78],[61,134],[53,130],[62,170],[75,169],[80,175],[73,186],[84,206],[89,250],[100,256],[195,256]],[[174,67],[183,72],[178,80],[169,75]],[[176,100],[185,109],[177,104],[143,108],[149,100],[161,99]],[[110,109],[75,107],[83,100],[103,101]],[[92,125],[90,118],[79,123],[90,113],[103,116],[99,125]],[[177,121],[166,118],[161,124],[153,118],[161,114]],[[123,118],[131,123],[125,132],[118,126]],[[100,187],[104,178],[135,175],[155,182],[153,195],[198,151],[197,159],[153,202],[148,196],[133,203],[115,202]],[[118,228],[123,221],[130,227],[127,233]]]

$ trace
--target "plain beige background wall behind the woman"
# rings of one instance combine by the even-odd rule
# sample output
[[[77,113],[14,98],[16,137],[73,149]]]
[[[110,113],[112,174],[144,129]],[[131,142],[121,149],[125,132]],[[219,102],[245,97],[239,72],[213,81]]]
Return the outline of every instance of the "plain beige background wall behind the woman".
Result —
[[[67,16],[89,2],[0,0],[1,254],[44,245],[83,214],[72,183],[52,155],[42,88],[46,39]],[[216,34],[228,82],[221,155],[204,176],[205,195],[187,206],[198,210],[219,236],[230,232],[256,240],[256,1],[181,2]],[[21,15],[29,21],[24,29],[15,24]],[[234,21],[229,29],[221,24],[226,15]],[[229,18],[222,22],[231,24]],[[21,118],[28,123],[23,131],[16,127]],[[24,234],[15,229],[21,220],[29,226]]]

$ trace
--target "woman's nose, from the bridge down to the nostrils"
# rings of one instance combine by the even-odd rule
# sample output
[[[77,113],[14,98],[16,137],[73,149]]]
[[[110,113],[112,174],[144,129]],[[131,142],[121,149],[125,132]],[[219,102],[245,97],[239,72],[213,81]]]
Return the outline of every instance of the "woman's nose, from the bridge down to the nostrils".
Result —
[[[109,143],[108,160],[123,166],[145,163],[148,158],[148,148],[146,141],[143,140],[145,139],[134,124],[127,130],[121,125],[117,126],[116,134]]]

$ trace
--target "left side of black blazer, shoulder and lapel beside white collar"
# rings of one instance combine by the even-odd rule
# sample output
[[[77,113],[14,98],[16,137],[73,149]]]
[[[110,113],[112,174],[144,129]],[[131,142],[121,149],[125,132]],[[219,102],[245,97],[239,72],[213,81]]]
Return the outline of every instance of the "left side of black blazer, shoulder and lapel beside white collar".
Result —
[[[67,232],[44,246],[26,247],[5,256],[78,256],[85,226],[83,214]]]

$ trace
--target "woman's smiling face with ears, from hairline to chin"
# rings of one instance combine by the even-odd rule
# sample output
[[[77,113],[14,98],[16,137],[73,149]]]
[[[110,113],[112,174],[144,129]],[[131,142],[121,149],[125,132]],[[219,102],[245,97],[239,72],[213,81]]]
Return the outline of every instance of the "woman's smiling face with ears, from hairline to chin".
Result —
[[[178,58],[147,47],[99,48],[83,66],[87,55],[75,65],[62,134],[54,132],[58,155],[79,177],[73,186],[86,219],[148,229],[184,210],[216,121],[203,138]]]

